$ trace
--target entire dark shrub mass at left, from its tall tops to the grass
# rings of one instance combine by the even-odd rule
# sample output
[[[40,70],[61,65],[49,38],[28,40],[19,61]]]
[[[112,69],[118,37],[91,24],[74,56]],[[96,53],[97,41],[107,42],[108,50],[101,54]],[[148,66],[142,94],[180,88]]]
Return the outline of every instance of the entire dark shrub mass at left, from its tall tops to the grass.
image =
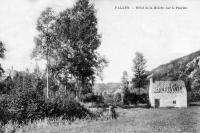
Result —
[[[0,123],[8,121],[19,124],[47,118],[74,120],[85,118],[92,114],[75,101],[71,92],[64,94],[60,88],[58,95],[45,99],[44,87],[46,81],[38,78],[34,73],[17,72],[12,78],[8,77],[3,83],[4,97],[0,99]],[[53,85],[52,85],[53,86]],[[5,117],[6,116],[6,117]]]

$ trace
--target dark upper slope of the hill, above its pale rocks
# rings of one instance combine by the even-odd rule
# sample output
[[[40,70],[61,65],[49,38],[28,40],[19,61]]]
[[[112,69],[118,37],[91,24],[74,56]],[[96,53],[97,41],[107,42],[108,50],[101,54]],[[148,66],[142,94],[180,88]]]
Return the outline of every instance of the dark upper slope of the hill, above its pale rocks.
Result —
[[[153,69],[151,73],[154,74],[156,80],[177,80],[180,79],[182,74],[186,73],[188,69],[188,64],[192,62],[195,58],[200,56],[200,50],[189,55],[183,56],[181,58],[172,60],[167,64],[160,65],[159,67]],[[187,75],[188,76],[188,75]]]

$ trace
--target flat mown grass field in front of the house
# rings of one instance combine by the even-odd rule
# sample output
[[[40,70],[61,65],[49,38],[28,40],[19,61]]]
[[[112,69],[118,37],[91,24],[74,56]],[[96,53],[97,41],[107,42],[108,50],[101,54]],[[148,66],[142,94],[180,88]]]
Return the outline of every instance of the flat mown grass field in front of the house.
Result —
[[[75,121],[71,125],[29,131],[30,133],[93,132],[200,132],[200,106],[188,108],[117,108],[116,120]]]

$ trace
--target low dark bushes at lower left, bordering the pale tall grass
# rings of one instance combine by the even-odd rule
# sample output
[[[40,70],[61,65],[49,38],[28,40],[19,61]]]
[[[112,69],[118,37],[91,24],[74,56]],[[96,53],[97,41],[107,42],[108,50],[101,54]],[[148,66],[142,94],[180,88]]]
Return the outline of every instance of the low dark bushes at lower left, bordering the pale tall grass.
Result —
[[[73,99],[57,97],[45,100],[35,90],[10,95],[0,101],[0,122],[8,121],[27,124],[29,121],[44,118],[60,118],[73,121],[87,116],[92,117],[86,108]]]

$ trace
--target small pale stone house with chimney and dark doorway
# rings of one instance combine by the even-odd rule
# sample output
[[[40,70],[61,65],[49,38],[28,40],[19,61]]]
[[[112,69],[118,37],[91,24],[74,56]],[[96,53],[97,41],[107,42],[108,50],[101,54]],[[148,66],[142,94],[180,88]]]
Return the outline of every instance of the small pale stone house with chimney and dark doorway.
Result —
[[[187,91],[183,81],[155,81],[149,76],[149,102],[152,107],[187,107]]]

